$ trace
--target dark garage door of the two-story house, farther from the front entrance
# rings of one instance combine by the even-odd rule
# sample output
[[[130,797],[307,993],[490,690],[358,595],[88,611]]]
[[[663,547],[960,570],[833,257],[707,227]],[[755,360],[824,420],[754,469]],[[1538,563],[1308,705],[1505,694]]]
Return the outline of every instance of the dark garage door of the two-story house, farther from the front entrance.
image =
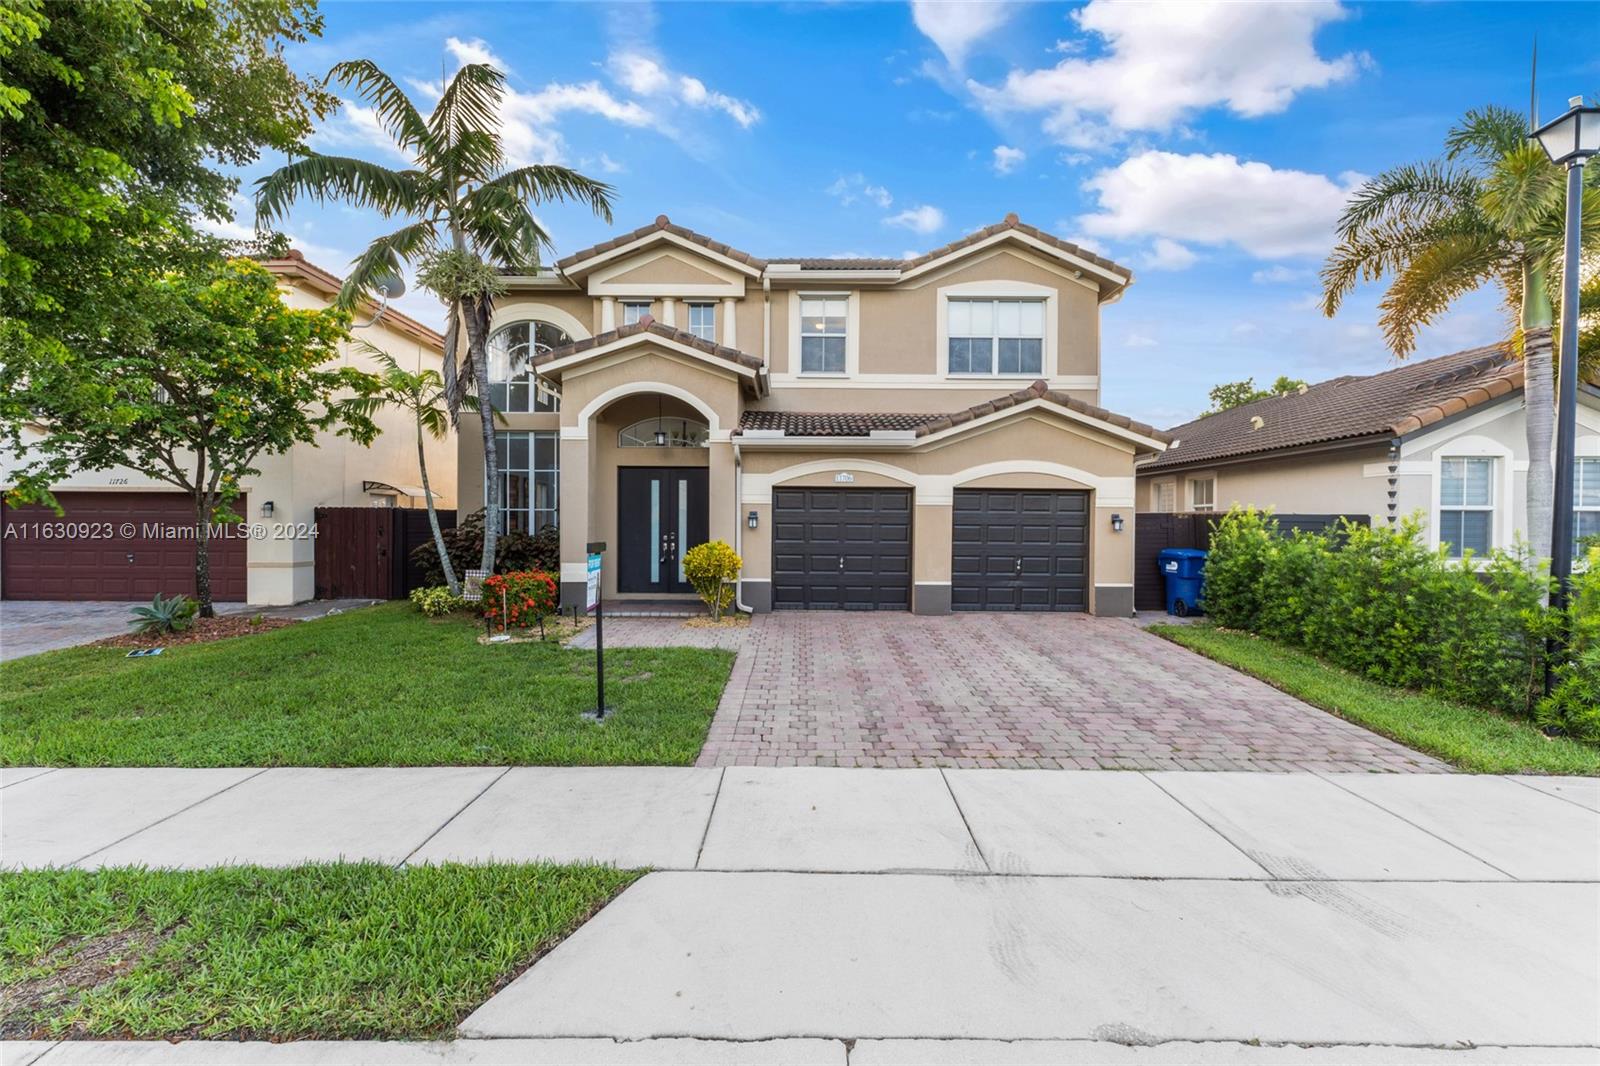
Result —
[[[1088,608],[1086,491],[957,490],[950,607]]]

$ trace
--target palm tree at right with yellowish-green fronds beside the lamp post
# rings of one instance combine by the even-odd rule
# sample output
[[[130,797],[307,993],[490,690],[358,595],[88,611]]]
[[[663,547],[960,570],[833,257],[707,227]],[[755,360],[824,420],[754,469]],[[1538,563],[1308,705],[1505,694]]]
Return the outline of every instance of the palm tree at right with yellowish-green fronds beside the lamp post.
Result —
[[[1584,192],[1587,250],[1600,248],[1597,178],[1587,176]],[[1389,275],[1379,323],[1400,359],[1456,299],[1483,285],[1501,290],[1515,322],[1510,339],[1525,362],[1528,538],[1538,557],[1550,554],[1550,323],[1560,295],[1563,210],[1562,171],[1528,139],[1528,122],[1506,107],[1469,110],[1445,138],[1443,158],[1395,166],[1355,192],[1322,269],[1328,317],[1358,282]],[[1582,339],[1595,341],[1594,330]]]

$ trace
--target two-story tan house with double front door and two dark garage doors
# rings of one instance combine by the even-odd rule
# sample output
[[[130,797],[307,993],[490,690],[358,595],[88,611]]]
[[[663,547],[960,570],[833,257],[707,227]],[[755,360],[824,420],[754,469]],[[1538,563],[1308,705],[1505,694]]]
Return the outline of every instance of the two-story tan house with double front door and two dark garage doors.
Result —
[[[1096,402],[1131,280],[1014,214],[914,259],[760,259],[661,216],[496,301],[507,525],[560,527],[565,603],[592,541],[606,595],[662,597],[723,539],[760,611],[1130,615],[1134,459],[1165,437]]]

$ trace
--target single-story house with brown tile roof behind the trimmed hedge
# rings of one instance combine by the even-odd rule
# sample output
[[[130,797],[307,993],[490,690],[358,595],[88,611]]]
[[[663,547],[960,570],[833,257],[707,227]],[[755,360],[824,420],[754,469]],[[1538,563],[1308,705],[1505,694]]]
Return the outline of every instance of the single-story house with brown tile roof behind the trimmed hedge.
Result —
[[[1578,533],[1600,533],[1600,394],[1578,405]],[[1139,464],[1139,511],[1421,512],[1451,555],[1526,530],[1522,360],[1475,347],[1197,418]]]

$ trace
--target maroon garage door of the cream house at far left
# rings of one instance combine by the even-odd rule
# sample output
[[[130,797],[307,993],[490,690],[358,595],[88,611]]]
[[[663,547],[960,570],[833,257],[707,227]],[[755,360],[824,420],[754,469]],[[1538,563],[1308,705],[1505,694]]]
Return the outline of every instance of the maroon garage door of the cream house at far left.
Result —
[[[8,600],[147,600],[195,592],[189,498],[179,493],[56,493],[66,509],[0,511],[0,592]],[[245,501],[234,511],[248,514]],[[250,541],[211,538],[211,599],[245,599]],[[131,533],[131,536],[130,536]]]

